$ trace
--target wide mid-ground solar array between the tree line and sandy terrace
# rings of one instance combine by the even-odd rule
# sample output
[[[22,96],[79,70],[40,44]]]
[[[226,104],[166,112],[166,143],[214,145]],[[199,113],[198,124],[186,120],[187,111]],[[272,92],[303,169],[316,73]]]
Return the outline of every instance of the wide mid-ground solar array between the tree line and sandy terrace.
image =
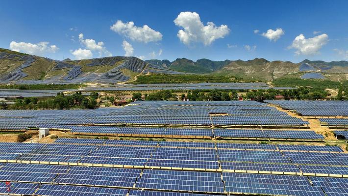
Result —
[[[250,112],[252,111],[252,112]],[[217,113],[223,115],[216,115]],[[24,118],[25,117],[25,118]],[[136,101],[123,108],[28,111],[0,121],[29,125],[141,125],[188,127],[307,127],[308,122],[254,101]],[[8,124],[8,123],[7,123]]]

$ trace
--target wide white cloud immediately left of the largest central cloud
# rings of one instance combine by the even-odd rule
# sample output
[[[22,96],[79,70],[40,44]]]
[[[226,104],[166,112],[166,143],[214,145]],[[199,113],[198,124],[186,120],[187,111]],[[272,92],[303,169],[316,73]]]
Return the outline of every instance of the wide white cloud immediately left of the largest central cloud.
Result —
[[[162,40],[162,34],[160,32],[149,28],[147,25],[144,25],[143,27],[134,26],[132,21],[123,23],[122,21],[118,20],[113,26],[110,27],[110,29],[119,33],[120,35],[128,37],[133,41],[149,43]]]

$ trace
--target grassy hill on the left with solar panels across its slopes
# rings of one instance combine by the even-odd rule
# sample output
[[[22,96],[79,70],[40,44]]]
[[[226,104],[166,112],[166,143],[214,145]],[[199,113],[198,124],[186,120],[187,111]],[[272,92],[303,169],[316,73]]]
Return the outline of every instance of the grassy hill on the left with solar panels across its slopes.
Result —
[[[149,73],[183,74],[131,56],[59,61],[0,49],[0,84],[114,84]]]

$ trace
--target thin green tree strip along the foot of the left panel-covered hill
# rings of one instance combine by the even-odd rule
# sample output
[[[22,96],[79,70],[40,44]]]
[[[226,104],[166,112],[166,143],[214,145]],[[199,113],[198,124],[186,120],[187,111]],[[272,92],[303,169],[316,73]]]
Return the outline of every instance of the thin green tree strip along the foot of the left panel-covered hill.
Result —
[[[3,84],[0,89],[20,89],[20,90],[66,90],[78,89],[86,86],[85,84]]]

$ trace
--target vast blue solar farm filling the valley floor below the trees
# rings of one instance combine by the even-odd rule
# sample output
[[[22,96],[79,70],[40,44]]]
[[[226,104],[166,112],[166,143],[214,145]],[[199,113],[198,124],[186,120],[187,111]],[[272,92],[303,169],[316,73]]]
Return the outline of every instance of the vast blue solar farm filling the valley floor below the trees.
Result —
[[[282,108],[297,111],[289,107],[295,103]],[[1,110],[3,133],[49,128],[69,137],[0,142],[0,195],[348,195],[345,149],[324,145],[326,136],[305,116],[275,104],[281,105],[135,101],[95,110]],[[317,104],[344,111],[340,102]],[[332,134],[340,140],[346,132]]]

